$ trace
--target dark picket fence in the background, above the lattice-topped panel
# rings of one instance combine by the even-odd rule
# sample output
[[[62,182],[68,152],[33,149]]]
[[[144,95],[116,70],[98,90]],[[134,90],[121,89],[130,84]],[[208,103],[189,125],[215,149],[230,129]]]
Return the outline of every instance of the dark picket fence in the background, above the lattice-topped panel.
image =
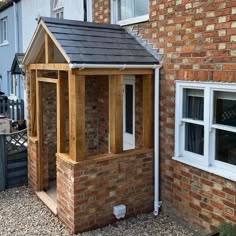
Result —
[[[0,115],[11,120],[24,120],[24,101],[0,99]]]

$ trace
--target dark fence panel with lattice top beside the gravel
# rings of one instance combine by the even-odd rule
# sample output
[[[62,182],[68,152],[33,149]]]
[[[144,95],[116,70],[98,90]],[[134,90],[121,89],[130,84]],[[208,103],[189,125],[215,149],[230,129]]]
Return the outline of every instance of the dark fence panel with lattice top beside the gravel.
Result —
[[[0,191],[27,182],[27,130],[0,134]]]

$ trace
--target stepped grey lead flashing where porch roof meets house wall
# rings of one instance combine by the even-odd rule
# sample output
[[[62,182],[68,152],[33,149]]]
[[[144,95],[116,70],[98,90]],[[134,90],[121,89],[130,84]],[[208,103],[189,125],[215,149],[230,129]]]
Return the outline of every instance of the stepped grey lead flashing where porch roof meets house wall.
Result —
[[[153,43],[150,43],[148,39],[143,38],[142,35],[139,34],[138,30],[133,27],[126,27],[126,31],[133,36],[136,41],[143,46],[152,56],[154,56],[159,62],[163,58],[163,53],[159,53],[159,48],[155,48]]]

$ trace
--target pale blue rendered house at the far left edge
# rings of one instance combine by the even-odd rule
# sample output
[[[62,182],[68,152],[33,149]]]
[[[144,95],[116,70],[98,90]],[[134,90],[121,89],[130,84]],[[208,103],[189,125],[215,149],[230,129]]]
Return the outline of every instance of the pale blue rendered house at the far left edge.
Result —
[[[23,98],[24,81],[11,75],[15,53],[22,51],[21,1],[7,1],[0,7],[0,91]]]

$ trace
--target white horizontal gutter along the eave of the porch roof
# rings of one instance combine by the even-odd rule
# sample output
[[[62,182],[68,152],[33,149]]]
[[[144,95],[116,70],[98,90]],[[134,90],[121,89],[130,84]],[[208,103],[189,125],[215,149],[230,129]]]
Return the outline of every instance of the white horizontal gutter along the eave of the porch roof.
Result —
[[[109,65],[109,64],[69,64],[71,69],[120,69],[120,70],[125,70],[125,69],[156,69],[160,68],[160,65],[119,65],[119,64],[114,64],[114,65]]]

